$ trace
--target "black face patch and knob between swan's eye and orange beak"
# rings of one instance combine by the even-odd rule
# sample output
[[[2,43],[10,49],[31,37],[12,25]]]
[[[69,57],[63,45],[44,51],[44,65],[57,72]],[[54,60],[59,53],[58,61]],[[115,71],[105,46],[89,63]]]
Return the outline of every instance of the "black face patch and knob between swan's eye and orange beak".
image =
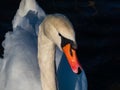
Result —
[[[77,45],[72,40],[65,38],[60,33],[59,33],[59,36],[61,37],[61,47],[64,47],[65,45],[70,44],[72,49],[77,49]]]

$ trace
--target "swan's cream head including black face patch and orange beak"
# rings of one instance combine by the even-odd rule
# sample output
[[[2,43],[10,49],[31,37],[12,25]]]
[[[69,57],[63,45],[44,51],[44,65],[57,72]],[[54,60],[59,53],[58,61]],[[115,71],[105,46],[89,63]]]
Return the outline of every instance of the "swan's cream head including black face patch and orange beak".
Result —
[[[82,70],[76,56],[75,32],[70,21],[61,14],[48,15],[43,23],[44,34],[64,52],[72,71],[79,74]]]

